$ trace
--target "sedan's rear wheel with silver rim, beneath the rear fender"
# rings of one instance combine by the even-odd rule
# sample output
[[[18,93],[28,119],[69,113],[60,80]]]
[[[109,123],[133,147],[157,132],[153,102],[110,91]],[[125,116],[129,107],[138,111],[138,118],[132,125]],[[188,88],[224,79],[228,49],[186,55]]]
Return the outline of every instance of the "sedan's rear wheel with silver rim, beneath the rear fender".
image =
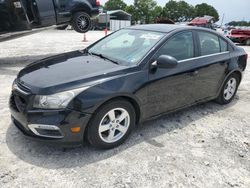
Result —
[[[225,81],[216,102],[222,105],[229,104],[237,93],[239,83],[239,75],[236,73],[231,74]]]

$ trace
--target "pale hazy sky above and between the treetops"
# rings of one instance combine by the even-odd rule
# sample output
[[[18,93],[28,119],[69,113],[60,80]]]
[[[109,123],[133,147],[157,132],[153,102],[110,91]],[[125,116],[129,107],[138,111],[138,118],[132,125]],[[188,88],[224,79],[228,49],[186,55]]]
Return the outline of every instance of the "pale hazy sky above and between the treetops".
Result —
[[[133,0],[123,0],[127,4],[132,4]],[[200,3],[207,3],[212,5],[222,18],[225,14],[224,23],[228,23],[232,20],[235,21],[250,21],[250,0],[185,0],[187,3],[196,5]],[[100,0],[101,4],[105,4],[107,0]],[[167,0],[156,0],[156,2],[164,6]],[[221,20],[219,21],[219,23]]]

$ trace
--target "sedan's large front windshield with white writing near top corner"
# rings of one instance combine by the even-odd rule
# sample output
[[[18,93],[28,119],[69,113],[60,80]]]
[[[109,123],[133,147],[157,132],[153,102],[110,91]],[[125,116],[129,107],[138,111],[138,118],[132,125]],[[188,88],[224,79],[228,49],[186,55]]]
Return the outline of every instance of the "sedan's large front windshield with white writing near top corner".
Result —
[[[122,29],[92,46],[88,52],[121,65],[135,65],[162,37],[158,32]]]

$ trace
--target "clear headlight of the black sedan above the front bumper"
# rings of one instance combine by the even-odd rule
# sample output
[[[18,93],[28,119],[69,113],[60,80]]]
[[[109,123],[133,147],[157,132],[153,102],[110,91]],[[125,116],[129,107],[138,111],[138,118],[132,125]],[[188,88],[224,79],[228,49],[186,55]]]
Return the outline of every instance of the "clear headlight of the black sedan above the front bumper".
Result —
[[[33,107],[42,109],[62,109],[66,108],[70,101],[82,91],[89,87],[74,89],[55,93],[53,95],[36,95]]]

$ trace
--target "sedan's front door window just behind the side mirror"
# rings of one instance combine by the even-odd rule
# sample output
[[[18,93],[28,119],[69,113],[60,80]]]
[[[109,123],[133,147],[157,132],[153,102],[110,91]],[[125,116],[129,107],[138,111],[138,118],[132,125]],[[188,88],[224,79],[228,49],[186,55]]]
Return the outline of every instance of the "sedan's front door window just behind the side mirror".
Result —
[[[170,38],[157,52],[160,55],[170,55],[177,60],[194,57],[194,43],[192,32],[183,32]]]

